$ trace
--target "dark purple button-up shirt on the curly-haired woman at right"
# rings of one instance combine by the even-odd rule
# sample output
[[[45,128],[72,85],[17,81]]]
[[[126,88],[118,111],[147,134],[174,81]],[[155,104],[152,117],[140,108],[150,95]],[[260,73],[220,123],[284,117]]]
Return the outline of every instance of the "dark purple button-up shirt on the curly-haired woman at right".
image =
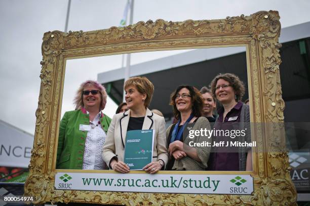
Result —
[[[239,101],[234,108],[232,108],[225,118],[224,108],[221,107],[218,112],[218,120],[214,125],[215,130],[233,130],[239,129],[239,124],[231,124],[240,122],[240,114],[243,103]],[[224,118],[224,121],[223,121]],[[229,119],[230,118],[230,119]],[[237,119],[236,119],[237,118]],[[229,120],[229,121],[228,121]],[[237,138],[236,138],[237,139]],[[224,141],[225,145],[227,141],[231,141],[229,136],[216,136],[213,137],[213,141]],[[211,153],[210,170],[214,171],[239,171],[239,153],[238,152],[225,152],[227,147],[215,147]],[[229,149],[228,149],[229,150]]]

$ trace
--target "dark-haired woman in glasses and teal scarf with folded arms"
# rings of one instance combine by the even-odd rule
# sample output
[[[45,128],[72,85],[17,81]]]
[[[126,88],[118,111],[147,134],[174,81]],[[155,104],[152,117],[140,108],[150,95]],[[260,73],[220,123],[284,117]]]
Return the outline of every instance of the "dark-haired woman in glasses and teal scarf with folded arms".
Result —
[[[167,170],[206,170],[211,150],[211,138],[191,131],[210,130],[207,118],[201,117],[203,97],[193,86],[179,86],[172,94],[170,105],[178,120],[167,129],[170,159]],[[209,145],[197,145],[206,143]]]

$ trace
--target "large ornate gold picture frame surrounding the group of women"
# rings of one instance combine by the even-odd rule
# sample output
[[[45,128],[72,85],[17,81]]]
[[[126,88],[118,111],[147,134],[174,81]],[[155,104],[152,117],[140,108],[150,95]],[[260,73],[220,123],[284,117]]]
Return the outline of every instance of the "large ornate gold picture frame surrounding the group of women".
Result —
[[[159,19],[89,32],[46,32],[42,43],[41,89],[35,112],[35,136],[25,195],[34,196],[37,204],[75,201],[127,205],[295,205],[297,193],[289,175],[288,155],[282,150],[285,139],[279,124],[284,122],[279,72],[279,19],[277,11],[260,11],[250,16],[220,20],[167,22]],[[257,151],[268,147],[273,152],[253,151],[253,172],[212,171],[206,174],[251,174],[254,177],[252,195],[90,192],[54,188],[57,172],[55,149],[66,60],[238,45],[247,48],[251,122],[274,124],[272,129],[255,126],[252,135],[257,141]]]

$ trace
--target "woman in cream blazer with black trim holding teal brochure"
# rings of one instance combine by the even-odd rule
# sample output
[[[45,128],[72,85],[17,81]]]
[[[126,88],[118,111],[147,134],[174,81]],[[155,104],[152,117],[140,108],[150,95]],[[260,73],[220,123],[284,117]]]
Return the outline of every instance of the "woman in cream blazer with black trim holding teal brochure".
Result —
[[[150,174],[157,173],[165,168],[168,152],[165,119],[147,108],[153,95],[154,86],[146,77],[132,77],[125,82],[124,89],[129,110],[113,116],[103,145],[102,158],[110,169],[128,173],[129,167],[123,162],[126,132],[153,129],[155,133],[153,162],[146,165],[143,170]]]

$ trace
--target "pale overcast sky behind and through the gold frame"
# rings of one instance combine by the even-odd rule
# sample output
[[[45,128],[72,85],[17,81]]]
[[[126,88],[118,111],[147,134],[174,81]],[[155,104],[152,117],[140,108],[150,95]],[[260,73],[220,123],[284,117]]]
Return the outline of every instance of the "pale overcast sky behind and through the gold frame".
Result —
[[[68,30],[91,31],[119,26],[126,2],[72,0]],[[47,31],[64,31],[67,4],[66,0],[0,0],[0,119],[31,134],[34,134],[41,85],[42,37]],[[135,0],[133,23],[149,19],[223,19],[269,10],[279,11],[282,28],[310,21],[308,0]],[[184,51],[133,54],[131,64],[179,52]],[[86,79],[96,80],[98,73],[121,66],[121,55],[68,61],[62,113],[73,110],[72,98],[79,84]],[[112,117],[116,107],[108,99],[103,112]]]

